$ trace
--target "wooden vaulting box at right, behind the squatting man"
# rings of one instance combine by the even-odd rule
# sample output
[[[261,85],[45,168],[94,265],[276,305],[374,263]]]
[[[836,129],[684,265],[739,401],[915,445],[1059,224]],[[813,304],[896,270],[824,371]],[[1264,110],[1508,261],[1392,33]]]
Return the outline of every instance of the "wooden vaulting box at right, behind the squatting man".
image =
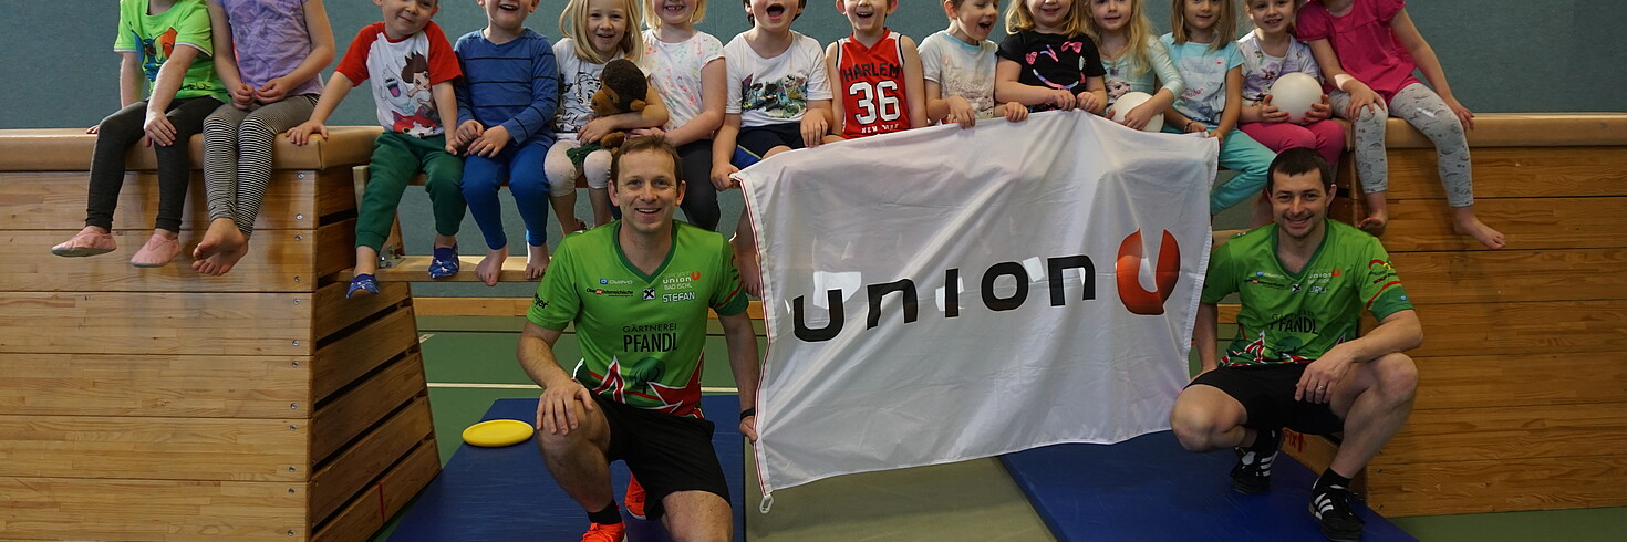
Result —
[[[1389,120],[1383,243],[1424,347],[1412,417],[1368,464],[1367,500],[1385,516],[1627,505],[1627,114],[1476,124],[1474,208],[1502,251],[1451,231],[1433,145]],[[1344,160],[1339,186],[1355,181]],[[1342,202],[1336,218],[1363,216]],[[1284,448],[1318,470],[1336,449]]]

